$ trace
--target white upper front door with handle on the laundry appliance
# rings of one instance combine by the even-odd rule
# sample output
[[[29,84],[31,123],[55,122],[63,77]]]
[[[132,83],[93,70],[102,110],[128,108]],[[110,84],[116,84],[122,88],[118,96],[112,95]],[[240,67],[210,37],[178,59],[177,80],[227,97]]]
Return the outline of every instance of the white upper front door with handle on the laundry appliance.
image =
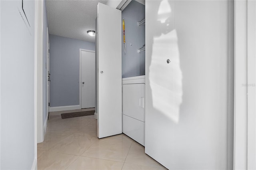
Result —
[[[123,114],[145,122],[145,84],[123,85]]]

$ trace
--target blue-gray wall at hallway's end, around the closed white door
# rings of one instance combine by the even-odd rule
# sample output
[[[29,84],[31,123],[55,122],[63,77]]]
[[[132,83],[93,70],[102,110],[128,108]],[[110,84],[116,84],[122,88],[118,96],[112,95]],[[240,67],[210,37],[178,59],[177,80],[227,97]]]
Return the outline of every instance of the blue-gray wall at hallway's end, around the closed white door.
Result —
[[[79,105],[79,49],[95,43],[50,34],[50,107]]]

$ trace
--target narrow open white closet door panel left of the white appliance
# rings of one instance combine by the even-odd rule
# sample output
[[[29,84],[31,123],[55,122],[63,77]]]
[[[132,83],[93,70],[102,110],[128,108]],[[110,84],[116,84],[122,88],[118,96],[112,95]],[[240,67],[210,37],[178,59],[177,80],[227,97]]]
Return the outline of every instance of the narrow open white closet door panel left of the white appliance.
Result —
[[[98,4],[98,137],[122,133],[121,11]]]

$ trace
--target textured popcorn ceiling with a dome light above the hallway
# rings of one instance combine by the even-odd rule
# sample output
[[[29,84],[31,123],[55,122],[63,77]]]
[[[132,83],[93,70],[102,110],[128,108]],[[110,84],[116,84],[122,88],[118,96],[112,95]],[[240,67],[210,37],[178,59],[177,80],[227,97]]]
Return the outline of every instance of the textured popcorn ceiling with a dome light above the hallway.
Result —
[[[98,2],[106,4],[106,0],[47,0],[49,33],[95,42],[87,31],[95,30]]]

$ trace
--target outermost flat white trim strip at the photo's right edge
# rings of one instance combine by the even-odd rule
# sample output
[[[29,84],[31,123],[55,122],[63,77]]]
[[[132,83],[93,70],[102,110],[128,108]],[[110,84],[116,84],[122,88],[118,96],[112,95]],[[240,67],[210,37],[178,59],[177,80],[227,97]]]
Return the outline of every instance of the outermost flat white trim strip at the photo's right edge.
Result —
[[[247,168],[256,169],[256,1],[247,2]],[[252,85],[252,86],[251,86]]]

